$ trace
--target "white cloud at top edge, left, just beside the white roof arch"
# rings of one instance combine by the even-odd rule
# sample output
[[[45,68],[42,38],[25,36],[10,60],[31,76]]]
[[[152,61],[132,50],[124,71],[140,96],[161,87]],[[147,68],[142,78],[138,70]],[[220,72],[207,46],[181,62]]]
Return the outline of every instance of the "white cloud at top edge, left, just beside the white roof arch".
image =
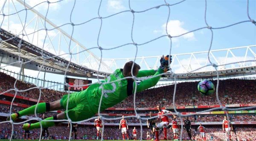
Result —
[[[35,5],[37,5],[37,4],[39,4],[39,3],[41,3],[41,4],[39,4],[38,6],[36,6],[35,7],[35,9],[36,10],[47,10],[47,8],[48,8],[48,3],[47,2],[45,2],[46,0],[26,0],[26,3],[29,5],[29,6],[31,6],[31,7],[33,7],[33,6],[35,6]],[[51,2],[50,4],[49,4],[49,9],[52,9],[52,10],[58,10],[59,8],[60,8],[60,3],[53,3],[53,2],[56,2],[56,1],[58,1],[58,0],[49,0],[49,2]],[[42,3],[42,2],[44,2],[44,3]]]

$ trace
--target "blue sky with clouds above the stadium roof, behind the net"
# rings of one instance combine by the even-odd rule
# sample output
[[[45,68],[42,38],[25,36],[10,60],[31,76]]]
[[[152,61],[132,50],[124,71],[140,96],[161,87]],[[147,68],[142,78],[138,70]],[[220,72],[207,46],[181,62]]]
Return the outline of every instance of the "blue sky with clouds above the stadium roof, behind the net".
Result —
[[[54,2],[54,0],[49,1]],[[4,0],[0,0],[0,7],[3,5],[3,2]],[[26,3],[30,6],[35,6],[41,2],[44,2],[44,0],[26,0]],[[180,2],[180,0],[166,0],[166,2],[173,4]],[[60,26],[64,23],[70,23],[70,20],[74,24],[80,24],[94,17],[99,17],[99,15],[100,17],[107,17],[118,12],[129,10],[128,0],[102,0],[100,9],[99,3],[100,1],[98,0],[76,0],[72,16],[70,16],[70,13],[74,5],[73,0],[63,0],[58,3],[50,3],[47,18],[52,23]],[[143,11],[162,4],[165,4],[164,0],[131,0],[130,2],[131,9],[133,9],[135,12]],[[17,11],[24,9],[24,7],[16,1],[14,1],[14,5],[16,6]],[[168,6],[161,6],[157,9],[154,8],[146,12],[134,13],[132,37],[135,43],[145,43],[154,38],[166,35],[166,23],[167,32],[171,36],[181,35],[183,33],[207,26],[204,20],[204,0],[186,0],[183,3],[169,7],[170,17],[168,21]],[[10,8],[10,13],[14,13],[15,9],[13,8],[11,1]],[[35,9],[43,15],[46,15],[47,8],[47,3],[42,3],[35,7]],[[5,14],[7,13],[7,5],[5,6],[3,12]],[[19,15],[24,23],[26,19],[26,12],[19,12]],[[251,19],[256,20],[256,0],[249,0],[249,15]],[[9,16],[9,30],[12,31],[12,33],[18,34],[19,31],[21,31],[22,26],[20,26],[20,21],[15,16],[16,15]],[[30,21],[34,16],[35,15],[33,15],[32,12],[28,11],[26,22]],[[3,16],[0,16],[0,21],[2,20]],[[35,20],[36,19],[34,19],[31,23],[35,22]],[[212,28],[223,27],[240,21],[249,20],[247,17],[247,1],[207,0],[206,20],[209,26]],[[99,42],[97,42],[101,20],[91,20],[88,23],[74,26],[73,38],[87,48],[97,47],[97,43],[99,43],[99,46],[101,46],[103,49],[110,49],[126,43],[133,43],[131,38],[132,21],[133,14],[131,12],[123,12],[112,17],[103,18]],[[44,23],[44,21],[42,23]],[[34,26],[35,24],[29,25],[26,31],[28,33],[32,33],[34,31]],[[7,18],[5,18],[1,28],[6,29],[7,27]],[[39,29],[41,27],[39,27]],[[51,28],[52,27],[47,24],[47,29]],[[63,29],[69,35],[72,33],[71,25],[61,26],[61,29]],[[256,45],[256,26],[251,22],[237,24],[224,29],[212,30],[213,42],[211,49],[226,49],[238,46]],[[58,31],[52,30],[49,31],[48,34],[49,37],[55,37],[55,35],[58,34]],[[38,40],[35,39],[33,44],[42,46],[44,43],[44,36],[45,34],[43,31],[38,32],[39,38]],[[30,38],[31,37],[32,35],[30,35]],[[174,37],[172,38],[171,54],[207,51],[209,49],[210,40],[211,32],[209,29],[201,29],[181,37]],[[48,39],[46,41],[49,42]],[[64,42],[63,39],[62,41]],[[52,43],[55,45],[57,42],[58,37],[55,37],[55,39],[52,40]],[[63,46],[61,46],[60,52],[68,52],[68,48],[65,46],[65,43],[62,45]],[[71,49],[73,49],[73,46],[74,44],[71,44]],[[44,49],[48,49],[50,52],[54,53],[52,47],[50,46],[45,46]],[[56,45],[55,50],[58,52],[58,47],[56,47]],[[138,46],[137,57],[166,55],[169,54],[169,50],[169,38],[162,37],[158,40],[146,43],[145,45]],[[99,49],[92,49],[90,51],[98,57],[101,55]],[[254,48],[254,52],[256,52],[256,48]],[[234,51],[234,54],[236,56],[241,56],[240,58],[242,59],[244,52],[237,50]],[[102,58],[134,58],[135,55],[136,47],[134,45],[122,46],[118,49],[102,50]],[[205,61],[205,58],[207,57],[206,55],[207,54],[201,56],[201,58],[204,58],[202,61]],[[74,58],[76,57],[77,56]],[[219,55],[218,59],[221,59],[221,57],[223,57],[223,55]],[[80,63],[83,62],[84,58],[82,55],[76,59],[78,58]],[[183,58],[182,61],[186,62],[187,60],[188,58]],[[151,62],[153,62],[153,60]],[[34,75],[34,72],[29,74]],[[37,72],[35,72],[35,74],[37,74]],[[46,78],[51,79],[50,77]],[[59,80],[62,81],[63,78],[60,77]]]

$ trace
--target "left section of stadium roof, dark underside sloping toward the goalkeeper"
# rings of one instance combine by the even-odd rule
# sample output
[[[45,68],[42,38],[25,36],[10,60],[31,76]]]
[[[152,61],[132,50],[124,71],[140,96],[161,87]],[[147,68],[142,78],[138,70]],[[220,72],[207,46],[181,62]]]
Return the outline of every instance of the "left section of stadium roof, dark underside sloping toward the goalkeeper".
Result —
[[[31,70],[41,70],[49,73],[64,75],[67,69],[68,60],[38,48],[19,37],[15,37],[11,33],[0,29],[0,37],[2,40],[0,51],[1,51],[1,62],[10,64],[12,66],[20,67],[19,61],[23,60],[23,68]],[[43,57],[42,57],[43,55]],[[20,60],[18,60],[20,56]],[[27,63],[26,63],[27,62]],[[97,78],[97,71],[79,66],[76,63],[71,62],[67,74],[69,76],[86,77],[86,78]],[[107,73],[99,72],[99,78],[103,79],[107,76]]]

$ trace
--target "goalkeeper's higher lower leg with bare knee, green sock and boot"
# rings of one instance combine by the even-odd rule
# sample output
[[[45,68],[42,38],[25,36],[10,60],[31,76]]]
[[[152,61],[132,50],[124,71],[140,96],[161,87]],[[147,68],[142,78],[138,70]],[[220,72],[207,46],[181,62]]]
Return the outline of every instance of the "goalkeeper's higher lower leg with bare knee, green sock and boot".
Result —
[[[37,109],[36,109],[36,113],[39,114],[39,113],[42,113],[42,112],[61,109],[60,101],[61,100],[54,101],[54,102],[51,102],[51,103],[39,103],[39,104],[37,104],[38,106],[37,106]],[[29,108],[23,109],[20,112],[13,113],[11,115],[11,118],[12,118],[13,121],[15,121],[15,120],[17,120],[17,118],[20,118],[23,115],[35,114],[35,108],[36,108],[36,105],[33,105]]]

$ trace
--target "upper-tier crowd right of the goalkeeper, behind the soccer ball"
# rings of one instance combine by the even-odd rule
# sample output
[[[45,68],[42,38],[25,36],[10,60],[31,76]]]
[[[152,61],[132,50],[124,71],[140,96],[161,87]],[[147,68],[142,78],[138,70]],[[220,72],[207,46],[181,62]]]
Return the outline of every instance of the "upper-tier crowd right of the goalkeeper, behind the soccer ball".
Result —
[[[217,81],[212,81],[216,86]],[[177,83],[175,105],[215,105],[219,104],[216,94],[203,96],[197,90],[198,82]],[[172,106],[174,85],[147,89],[136,95],[137,107],[154,107],[156,104]],[[219,81],[218,95],[221,104],[251,104],[256,101],[256,81],[228,79]],[[164,99],[164,100],[163,100]],[[134,98],[131,96],[115,107],[131,107]],[[152,102],[154,101],[154,102]]]

